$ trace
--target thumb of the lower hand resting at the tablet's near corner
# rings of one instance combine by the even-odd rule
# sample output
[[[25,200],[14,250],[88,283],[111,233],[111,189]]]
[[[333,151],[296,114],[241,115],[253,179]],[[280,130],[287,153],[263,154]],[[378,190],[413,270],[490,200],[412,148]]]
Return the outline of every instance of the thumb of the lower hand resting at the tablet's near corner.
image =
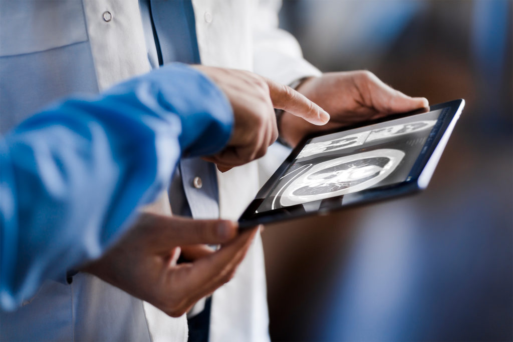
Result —
[[[235,222],[221,219],[196,220],[180,216],[143,213],[140,224],[145,232],[153,235],[153,247],[169,249],[170,246],[197,244],[223,244],[238,233]]]

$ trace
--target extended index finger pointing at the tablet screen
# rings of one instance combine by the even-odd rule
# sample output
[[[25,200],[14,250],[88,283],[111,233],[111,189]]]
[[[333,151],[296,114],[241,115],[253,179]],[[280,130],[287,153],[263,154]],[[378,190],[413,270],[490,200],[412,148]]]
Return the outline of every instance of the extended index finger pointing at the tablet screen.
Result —
[[[265,78],[269,86],[269,94],[274,108],[283,109],[295,116],[302,117],[314,125],[325,125],[329,121],[329,114],[311,102],[303,94],[294,89]]]

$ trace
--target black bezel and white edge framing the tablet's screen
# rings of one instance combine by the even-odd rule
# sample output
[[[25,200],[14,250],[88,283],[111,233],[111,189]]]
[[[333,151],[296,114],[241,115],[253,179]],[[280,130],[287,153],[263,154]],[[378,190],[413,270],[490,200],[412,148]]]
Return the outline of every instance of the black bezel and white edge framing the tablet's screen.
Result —
[[[377,120],[367,121],[358,125],[352,125],[344,127],[343,129],[334,129],[324,131],[320,133],[313,133],[305,136],[301,142],[292,150],[280,167],[272,174],[267,180],[264,186],[260,189],[255,199],[249,204],[244,213],[239,218],[239,228],[249,228],[259,224],[267,224],[271,222],[278,222],[286,219],[293,219],[311,215],[323,215],[332,211],[340,210],[346,207],[353,207],[363,205],[369,202],[375,202],[391,197],[403,196],[407,194],[416,193],[422,189],[425,189],[429,183],[429,180],[435,171],[436,165],[442,155],[442,152],[447,144],[447,140],[454,128],[462,110],[465,105],[464,99],[456,99],[449,102],[433,105],[429,107],[429,111],[435,111],[439,109],[445,109],[440,113],[440,116],[431,132],[429,133],[426,143],[422,147],[416,162],[413,164],[406,180],[400,183],[394,183],[387,186],[370,188],[351,194],[350,202],[344,202],[343,204],[335,207],[328,207],[320,209],[319,211],[313,212],[299,212],[289,213],[288,211],[294,210],[294,207],[300,207],[302,205],[294,205],[287,207],[287,210],[275,209],[266,211],[263,213],[255,213],[259,208],[263,200],[272,191],[275,184],[283,173],[289,168],[291,163],[294,162],[297,155],[301,152],[305,144],[309,139],[323,136],[331,133],[347,131],[355,128],[366,127],[374,124],[387,122],[394,119],[399,119],[411,115],[426,113],[426,109],[414,110],[407,113],[400,113],[380,118]],[[342,198],[344,196],[333,196],[332,198]]]

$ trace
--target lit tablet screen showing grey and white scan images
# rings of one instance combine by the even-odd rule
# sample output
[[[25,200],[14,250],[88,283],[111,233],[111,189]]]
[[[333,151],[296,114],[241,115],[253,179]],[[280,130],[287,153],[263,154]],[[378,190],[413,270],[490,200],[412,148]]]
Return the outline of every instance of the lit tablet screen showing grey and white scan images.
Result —
[[[307,140],[255,212],[297,205],[313,211],[328,198],[407,180],[443,111]]]

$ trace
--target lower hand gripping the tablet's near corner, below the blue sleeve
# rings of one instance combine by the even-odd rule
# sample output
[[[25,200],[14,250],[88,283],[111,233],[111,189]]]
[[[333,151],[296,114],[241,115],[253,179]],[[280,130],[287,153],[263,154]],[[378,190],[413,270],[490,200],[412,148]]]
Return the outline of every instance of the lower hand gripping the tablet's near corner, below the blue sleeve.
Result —
[[[187,312],[233,276],[257,233],[227,220],[142,213],[100,259],[82,268],[172,317]],[[213,251],[205,245],[222,244]],[[176,264],[180,250],[191,262]]]

